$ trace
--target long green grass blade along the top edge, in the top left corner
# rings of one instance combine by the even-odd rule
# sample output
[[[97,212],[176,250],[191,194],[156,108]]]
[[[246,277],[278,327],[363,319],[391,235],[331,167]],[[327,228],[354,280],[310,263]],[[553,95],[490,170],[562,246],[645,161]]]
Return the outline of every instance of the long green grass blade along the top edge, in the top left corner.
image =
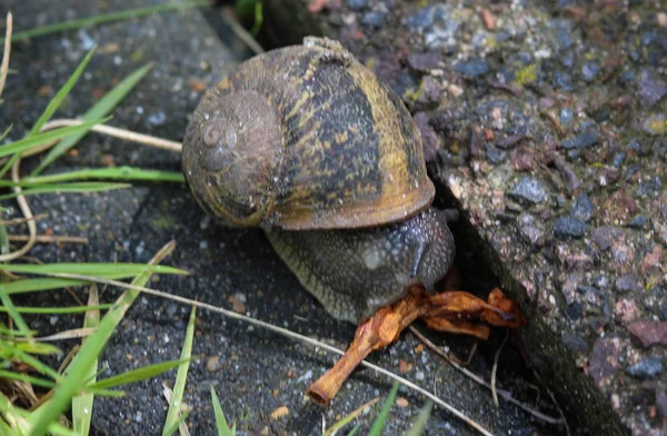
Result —
[[[30,29],[30,30],[23,30],[21,32],[16,32],[11,37],[11,40],[12,41],[21,41],[24,39],[41,37],[43,34],[60,32],[63,30],[79,29],[79,28],[87,27],[87,26],[98,26],[98,24],[103,24],[103,23],[112,22],[112,21],[129,20],[132,18],[150,16],[153,13],[167,12],[167,11],[172,11],[172,10],[177,10],[177,9],[196,8],[196,7],[207,6],[207,4],[210,4],[210,0],[175,1],[171,3],[160,4],[160,6],[155,6],[155,7],[137,8],[137,9],[130,9],[127,11],[104,13],[104,14],[99,14],[99,16],[89,17],[89,18],[80,18],[77,20],[70,20],[70,21],[66,21],[66,22],[58,22],[54,24],[42,26],[42,27],[34,28],[34,29]],[[4,38],[0,38],[0,43],[2,43],[2,42],[4,42]]]

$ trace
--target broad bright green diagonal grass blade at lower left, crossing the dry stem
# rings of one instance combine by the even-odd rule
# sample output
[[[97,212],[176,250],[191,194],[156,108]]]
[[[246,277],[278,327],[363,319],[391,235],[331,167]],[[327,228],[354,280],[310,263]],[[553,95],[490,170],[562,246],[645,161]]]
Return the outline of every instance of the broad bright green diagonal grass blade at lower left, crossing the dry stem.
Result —
[[[173,245],[166,246],[158,255],[156,255],[153,260],[151,260],[151,264],[159,262],[160,259],[171,252],[172,249]],[[132,280],[132,285],[145,286],[150,279],[150,276],[151,272],[141,274]],[[88,374],[90,366],[92,366],[93,361],[102,353],[102,349],[113,334],[113,330],[138,296],[138,290],[126,290],[118,298],[115,307],[100,320],[98,329],[88,337],[79,349],[79,353],[72,358],[72,361],[67,367],[64,376],[58,384],[58,387],[53,390],[51,399],[42,404],[30,416],[29,423],[32,425],[32,436],[43,436],[49,425],[56,422],[58,416],[60,416],[68,407],[71,398],[83,388],[86,380],[81,379],[79,375]],[[179,364],[180,360],[177,360],[173,366]]]

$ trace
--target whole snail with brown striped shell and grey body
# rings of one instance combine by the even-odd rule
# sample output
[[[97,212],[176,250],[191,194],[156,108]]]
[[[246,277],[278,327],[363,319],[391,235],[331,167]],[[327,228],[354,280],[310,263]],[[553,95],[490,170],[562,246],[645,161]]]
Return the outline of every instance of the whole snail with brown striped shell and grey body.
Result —
[[[182,170],[218,221],[262,228],[336,319],[364,325],[415,287],[432,294],[454,261],[447,222],[457,212],[431,206],[410,112],[338,41],[307,37],[245,61],[209,89],[186,130]],[[497,325],[516,324],[517,315],[470,298],[485,320],[495,314]],[[440,306],[456,313],[448,304]]]

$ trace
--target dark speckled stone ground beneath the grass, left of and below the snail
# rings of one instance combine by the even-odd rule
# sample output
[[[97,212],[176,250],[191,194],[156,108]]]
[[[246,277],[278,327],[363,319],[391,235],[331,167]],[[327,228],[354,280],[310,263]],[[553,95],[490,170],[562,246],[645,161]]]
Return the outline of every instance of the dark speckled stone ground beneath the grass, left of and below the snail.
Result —
[[[148,1],[6,1],[2,11],[14,13],[14,29],[89,17],[94,13],[146,6]],[[205,16],[215,18],[213,10]],[[221,29],[222,32],[223,29]],[[0,106],[0,123],[13,123],[8,139],[24,135],[49,99],[64,83],[92,43],[98,43],[83,78],[57,117],[83,113],[100,95],[147,62],[153,68],[122,101],[110,122],[145,133],[181,140],[205,86],[215,83],[235,62],[235,57],[196,11],[162,13],[151,18],[54,33],[13,44],[10,67],[17,71],[8,79]],[[238,41],[227,47],[239,47]],[[396,66],[398,68],[398,63]],[[23,164],[23,171],[38,162]],[[98,135],[88,136],[74,152],[57,161],[49,172],[81,167],[133,165],[179,170],[179,157]],[[166,242],[175,239],[177,250],[168,265],[185,268],[189,277],[160,277],[151,286],[232,307],[259,319],[320,338],[338,347],[351,340],[355,327],[336,323],[298,284],[272,252],[259,231],[229,231],[213,225],[199,209],[185,186],[143,184],[109,194],[37,196],[29,198],[36,214],[48,212],[38,224],[40,232],[83,236],[87,246],[39,245],[31,256],[42,261],[147,261]],[[3,206],[6,206],[3,204]],[[16,231],[24,231],[17,229]],[[465,251],[465,250],[464,250]],[[492,283],[487,284],[492,286]],[[490,287],[480,287],[482,294]],[[83,291],[78,297],[86,299]],[[102,299],[112,301],[116,289]],[[57,291],[17,299],[24,305],[71,305],[73,298]],[[140,297],[112,337],[100,364],[102,376],[119,374],[151,363],[178,358],[189,308],[153,297]],[[390,383],[369,370],[359,370],[344,385],[329,408],[320,408],[305,397],[307,386],[329,368],[336,357],[268,334],[246,324],[228,321],[218,315],[198,313],[185,402],[192,406],[188,417],[193,435],[213,434],[213,412],[209,388],[212,385],[239,435],[320,435],[322,422],[331,425],[375,397],[385,397]],[[79,316],[36,316],[28,318],[40,334],[80,327]],[[490,347],[480,345],[469,369],[489,379],[492,359],[502,339],[495,331]],[[446,339],[446,343],[445,343]],[[451,335],[435,337],[458,356],[467,356],[474,340]],[[63,350],[74,341],[61,343]],[[411,335],[377,353],[372,361],[436,392],[472,419],[497,435],[550,434],[554,426],[531,420],[529,415],[506,402],[496,408],[489,390],[465,378],[452,367],[424,349]],[[58,367],[60,361],[52,361]],[[511,389],[521,400],[535,405],[536,396],[522,383],[522,363],[512,341],[506,345],[498,370],[498,386]],[[127,387],[125,398],[100,398],[93,410],[98,435],[161,434],[167,403],[162,383],[171,385],[176,371]],[[401,389],[405,407],[396,406],[387,434],[397,435],[409,427],[424,398]],[[407,403],[407,406],[406,406]],[[286,406],[287,416],[273,419],[271,413]],[[540,396],[537,407],[556,415],[549,400]],[[374,414],[360,417],[367,429]],[[429,434],[472,435],[474,430],[451,415],[436,408],[428,424]]]

